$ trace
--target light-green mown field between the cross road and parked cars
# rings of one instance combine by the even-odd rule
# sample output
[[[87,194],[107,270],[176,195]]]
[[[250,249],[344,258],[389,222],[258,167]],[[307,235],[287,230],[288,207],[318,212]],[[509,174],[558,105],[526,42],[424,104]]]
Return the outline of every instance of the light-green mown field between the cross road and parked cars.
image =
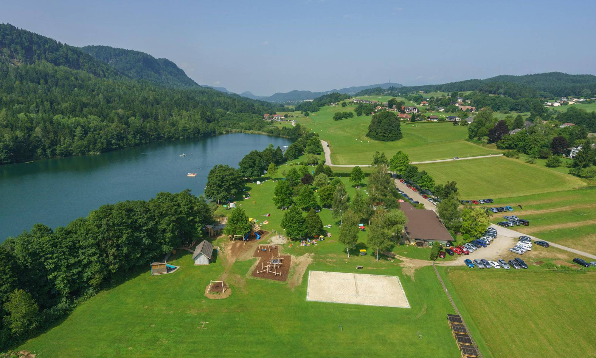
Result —
[[[419,164],[418,168],[429,172],[436,183],[456,181],[462,200],[539,194],[585,186],[582,180],[572,175],[504,156]]]

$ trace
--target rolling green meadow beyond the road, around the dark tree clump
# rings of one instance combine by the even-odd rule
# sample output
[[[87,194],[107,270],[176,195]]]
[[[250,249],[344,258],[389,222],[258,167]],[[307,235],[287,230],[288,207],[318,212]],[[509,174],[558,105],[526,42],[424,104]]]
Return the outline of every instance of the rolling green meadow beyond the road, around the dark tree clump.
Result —
[[[377,150],[385,152],[388,158],[398,150],[404,150],[414,162],[501,153],[467,142],[467,128],[451,123],[402,123],[403,139],[396,142],[372,140],[365,136],[371,116],[333,120],[335,112],[353,111],[355,108],[355,105],[344,108],[324,106],[321,111],[309,115],[308,120],[298,119],[300,124],[329,143],[333,164],[370,164]]]

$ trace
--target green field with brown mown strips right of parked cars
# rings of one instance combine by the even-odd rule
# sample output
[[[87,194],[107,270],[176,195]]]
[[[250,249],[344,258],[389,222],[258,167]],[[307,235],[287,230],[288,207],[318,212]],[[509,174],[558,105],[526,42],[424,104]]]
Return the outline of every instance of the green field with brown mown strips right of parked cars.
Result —
[[[492,205],[511,205],[517,216],[530,221],[517,231],[596,255],[596,187],[504,197]],[[502,215],[493,215],[492,221],[501,221]]]

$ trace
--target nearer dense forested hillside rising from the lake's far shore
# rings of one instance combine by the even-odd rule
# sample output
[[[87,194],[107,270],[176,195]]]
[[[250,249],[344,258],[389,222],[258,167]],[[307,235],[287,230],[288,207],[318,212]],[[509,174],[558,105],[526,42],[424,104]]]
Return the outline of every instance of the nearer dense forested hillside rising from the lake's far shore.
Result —
[[[0,164],[263,130],[262,115],[274,112],[269,103],[200,86],[138,81],[10,24],[0,24],[0,53]]]

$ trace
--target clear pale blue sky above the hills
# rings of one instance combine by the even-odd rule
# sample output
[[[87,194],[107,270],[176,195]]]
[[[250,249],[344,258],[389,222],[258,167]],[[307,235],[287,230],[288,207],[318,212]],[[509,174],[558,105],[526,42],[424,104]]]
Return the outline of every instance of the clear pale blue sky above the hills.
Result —
[[[58,4],[56,4],[58,3]],[[499,74],[596,74],[592,1],[5,1],[0,22],[271,95]]]

